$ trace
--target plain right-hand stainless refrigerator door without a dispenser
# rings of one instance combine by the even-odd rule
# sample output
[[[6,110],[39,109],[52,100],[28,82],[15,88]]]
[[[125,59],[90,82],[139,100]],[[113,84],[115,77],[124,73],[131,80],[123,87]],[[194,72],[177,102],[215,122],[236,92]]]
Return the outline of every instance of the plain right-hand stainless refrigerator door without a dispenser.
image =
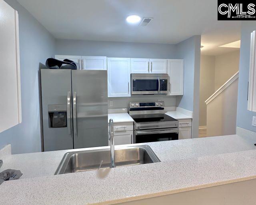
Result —
[[[106,70],[72,70],[74,148],[108,145]]]

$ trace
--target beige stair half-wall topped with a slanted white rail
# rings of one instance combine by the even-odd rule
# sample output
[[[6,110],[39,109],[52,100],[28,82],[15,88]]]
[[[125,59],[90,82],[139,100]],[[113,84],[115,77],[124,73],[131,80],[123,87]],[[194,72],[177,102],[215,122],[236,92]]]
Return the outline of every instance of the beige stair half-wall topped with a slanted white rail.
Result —
[[[208,137],[236,133],[238,74],[239,71],[205,101]]]

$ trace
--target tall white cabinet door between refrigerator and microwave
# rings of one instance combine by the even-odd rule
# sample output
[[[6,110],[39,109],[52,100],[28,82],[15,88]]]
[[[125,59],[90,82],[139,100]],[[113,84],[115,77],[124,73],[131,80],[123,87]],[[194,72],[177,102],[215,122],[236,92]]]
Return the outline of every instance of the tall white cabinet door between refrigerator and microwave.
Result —
[[[107,58],[108,62],[108,97],[129,97],[130,93],[130,58]]]

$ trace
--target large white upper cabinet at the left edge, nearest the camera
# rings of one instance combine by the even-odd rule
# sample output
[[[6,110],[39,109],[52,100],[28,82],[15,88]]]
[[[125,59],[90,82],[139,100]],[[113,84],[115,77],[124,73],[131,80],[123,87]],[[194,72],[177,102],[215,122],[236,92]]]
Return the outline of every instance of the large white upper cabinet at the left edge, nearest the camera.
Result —
[[[21,123],[18,12],[0,0],[0,132]]]

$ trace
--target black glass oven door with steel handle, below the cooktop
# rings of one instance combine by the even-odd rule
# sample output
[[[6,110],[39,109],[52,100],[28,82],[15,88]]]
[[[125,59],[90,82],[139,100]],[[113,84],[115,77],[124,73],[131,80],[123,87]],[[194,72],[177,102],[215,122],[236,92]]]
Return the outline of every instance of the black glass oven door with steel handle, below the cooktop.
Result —
[[[178,127],[165,129],[136,130],[134,133],[135,143],[146,143],[153,141],[168,141],[178,139]]]

